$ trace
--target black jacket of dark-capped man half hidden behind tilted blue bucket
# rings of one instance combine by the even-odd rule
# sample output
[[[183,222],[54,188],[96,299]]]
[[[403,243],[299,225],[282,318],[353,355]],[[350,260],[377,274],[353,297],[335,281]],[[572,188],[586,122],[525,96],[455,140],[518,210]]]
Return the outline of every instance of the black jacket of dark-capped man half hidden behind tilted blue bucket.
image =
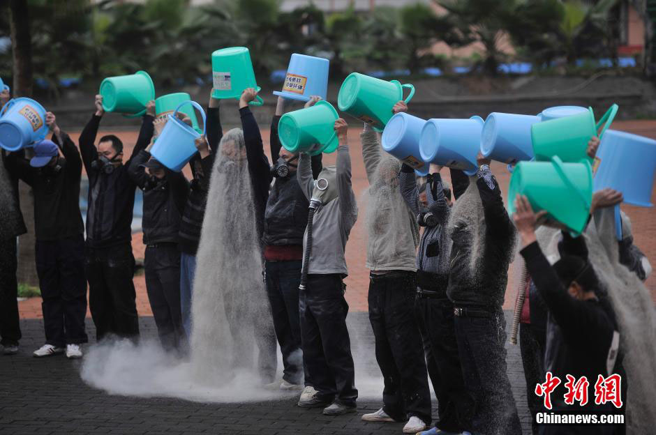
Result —
[[[189,183],[182,172],[164,169],[166,175],[152,185],[142,166],[150,158],[148,151],[140,151],[132,159],[128,172],[144,191],[142,229],[144,245],[177,243],[184,203],[189,193]]]

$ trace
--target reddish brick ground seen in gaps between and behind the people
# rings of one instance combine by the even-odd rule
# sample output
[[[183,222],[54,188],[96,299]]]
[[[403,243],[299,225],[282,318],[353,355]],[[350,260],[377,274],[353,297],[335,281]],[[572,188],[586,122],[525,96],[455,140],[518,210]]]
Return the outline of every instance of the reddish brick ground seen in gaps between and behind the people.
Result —
[[[351,125],[356,125],[353,119],[348,119]],[[264,149],[269,153],[269,130],[262,125],[262,137],[264,138]],[[656,121],[616,121],[613,123],[613,128],[616,130],[625,130],[634,132],[638,135],[652,137],[656,139]],[[366,181],[366,174],[364,171],[364,164],[362,162],[360,144],[359,144],[359,128],[352,128],[349,130],[350,154],[352,160],[352,182],[353,189],[355,190],[358,199],[361,194],[368,187]],[[126,153],[131,151],[132,144],[134,144],[137,132],[116,132],[112,133],[121,137],[121,140],[126,144]],[[100,131],[98,135],[103,135],[105,132]],[[77,142],[79,132],[70,132],[71,137]],[[99,136],[100,137],[100,136]],[[325,164],[333,165],[335,162],[335,154],[325,155]],[[504,165],[498,162],[493,162],[492,169],[495,176],[501,185],[504,192],[504,197],[507,194],[507,187],[510,179],[510,174],[505,169]],[[188,174],[188,167],[185,168]],[[448,171],[444,171],[449,179]],[[358,219],[355,227],[351,231],[348,245],[346,246],[346,259],[349,267],[350,275],[346,279],[348,285],[347,300],[350,304],[352,311],[366,311],[366,293],[368,289],[368,270],[364,267],[366,259],[366,234],[363,229],[364,210],[363,201],[359,201],[360,205],[360,218]],[[656,203],[656,189],[653,190],[652,202]],[[623,210],[631,217],[633,223],[633,231],[635,243],[643,252],[651,259],[652,263],[656,265],[656,214],[654,208],[643,208],[623,205]],[[137,259],[143,258],[144,246],[141,242],[141,234],[133,235],[133,249]],[[512,310],[516,290],[513,278],[516,276],[514,268],[511,266],[509,272],[509,287],[506,292],[506,299],[504,308]],[[652,298],[656,302],[656,273],[654,273],[646,282],[647,287],[652,293]],[[150,306],[146,294],[144,276],[140,275],[135,277],[135,287],[137,288],[137,310],[142,315],[151,315]],[[21,316],[24,319],[40,319],[41,314],[41,301],[40,298],[31,298],[20,303]]]

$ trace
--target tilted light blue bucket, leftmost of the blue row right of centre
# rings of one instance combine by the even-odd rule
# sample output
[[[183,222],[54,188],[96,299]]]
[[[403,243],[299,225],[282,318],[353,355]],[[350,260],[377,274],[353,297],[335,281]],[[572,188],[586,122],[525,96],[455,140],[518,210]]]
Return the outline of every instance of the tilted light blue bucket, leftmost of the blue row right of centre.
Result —
[[[425,123],[424,119],[400,112],[387,121],[381,137],[382,149],[414,168],[418,174],[426,171],[424,175],[428,173],[428,163],[419,153],[419,137]]]

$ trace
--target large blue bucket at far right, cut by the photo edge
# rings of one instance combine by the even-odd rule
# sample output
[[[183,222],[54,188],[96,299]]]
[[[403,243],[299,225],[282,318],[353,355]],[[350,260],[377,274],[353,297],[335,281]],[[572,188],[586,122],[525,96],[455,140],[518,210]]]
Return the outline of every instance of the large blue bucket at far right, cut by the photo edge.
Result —
[[[595,191],[611,188],[624,201],[651,207],[656,174],[656,140],[617,130],[606,130],[595,158]]]

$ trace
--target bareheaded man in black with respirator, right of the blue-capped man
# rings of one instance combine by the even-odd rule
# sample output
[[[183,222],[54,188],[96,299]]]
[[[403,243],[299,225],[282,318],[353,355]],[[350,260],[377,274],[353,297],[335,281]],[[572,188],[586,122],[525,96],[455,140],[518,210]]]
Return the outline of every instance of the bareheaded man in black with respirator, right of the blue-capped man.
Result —
[[[96,96],[96,112],[80,134],[80,153],[89,177],[86,261],[89,308],[96,325],[96,339],[108,334],[139,335],[139,318],[133,283],[132,214],[137,185],[128,174],[135,155],[146,148],[153,135],[155,102],[146,107],[135,148],[124,165],[123,142],[114,135],[100,137],[94,145],[103,96]]]

